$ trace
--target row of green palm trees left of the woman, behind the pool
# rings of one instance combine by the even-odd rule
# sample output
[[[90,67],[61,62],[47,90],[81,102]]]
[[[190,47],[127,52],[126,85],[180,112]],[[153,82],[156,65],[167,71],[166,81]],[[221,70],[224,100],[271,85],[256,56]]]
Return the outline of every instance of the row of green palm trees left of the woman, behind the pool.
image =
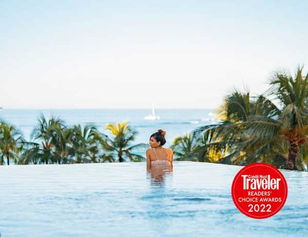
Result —
[[[111,136],[99,132],[93,124],[67,126],[53,115],[38,117],[26,142],[14,126],[0,122],[0,164],[79,164],[144,161],[139,149],[146,144],[133,144],[137,131],[128,122],[108,124]]]

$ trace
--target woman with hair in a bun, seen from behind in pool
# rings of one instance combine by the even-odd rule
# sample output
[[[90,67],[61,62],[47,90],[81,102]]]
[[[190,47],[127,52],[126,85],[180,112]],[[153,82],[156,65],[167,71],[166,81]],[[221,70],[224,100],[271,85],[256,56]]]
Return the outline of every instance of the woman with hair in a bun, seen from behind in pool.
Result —
[[[173,151],[169,148],[163,148],[166,143],[166,132],[159,129],[156,133],[150,136],[151,148],[146,150],[146,168],[153,167],[173,167]]]

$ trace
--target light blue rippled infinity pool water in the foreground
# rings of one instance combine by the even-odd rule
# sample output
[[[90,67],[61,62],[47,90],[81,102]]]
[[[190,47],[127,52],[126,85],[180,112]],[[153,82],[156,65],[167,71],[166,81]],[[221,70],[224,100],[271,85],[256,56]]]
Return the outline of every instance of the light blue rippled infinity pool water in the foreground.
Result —
[[[240,166],[174,162],[0,167],[0,233],[9,236],[306,236],[308,173],[282,171],[284,207],[256,220],[235,207]]]

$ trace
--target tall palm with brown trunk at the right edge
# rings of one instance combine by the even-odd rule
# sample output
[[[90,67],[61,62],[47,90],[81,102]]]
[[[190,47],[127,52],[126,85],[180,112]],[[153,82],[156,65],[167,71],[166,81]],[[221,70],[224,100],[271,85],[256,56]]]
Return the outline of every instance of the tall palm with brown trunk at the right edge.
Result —
[[[308,134],[308,73],[303,78],[302,70],[299,67],[294,78],[276,73],[271,80],[268,95],[278,102],[281,114],[277,123],[263,127],[264,132],[275,129],[277,136],[284,136],[288,142],[286,168],[291,170],[298,168],[300,145],[306,145]]]

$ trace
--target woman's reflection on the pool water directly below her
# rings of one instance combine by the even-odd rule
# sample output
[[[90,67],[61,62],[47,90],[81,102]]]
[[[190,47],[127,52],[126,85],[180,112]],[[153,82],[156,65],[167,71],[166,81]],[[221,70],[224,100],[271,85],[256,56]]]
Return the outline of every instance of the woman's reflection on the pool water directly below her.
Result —
[[[162,186],[167,177],[172,177],[172,167],[151,167],[147,169],[147,180],[150,180],[151,186]]]

